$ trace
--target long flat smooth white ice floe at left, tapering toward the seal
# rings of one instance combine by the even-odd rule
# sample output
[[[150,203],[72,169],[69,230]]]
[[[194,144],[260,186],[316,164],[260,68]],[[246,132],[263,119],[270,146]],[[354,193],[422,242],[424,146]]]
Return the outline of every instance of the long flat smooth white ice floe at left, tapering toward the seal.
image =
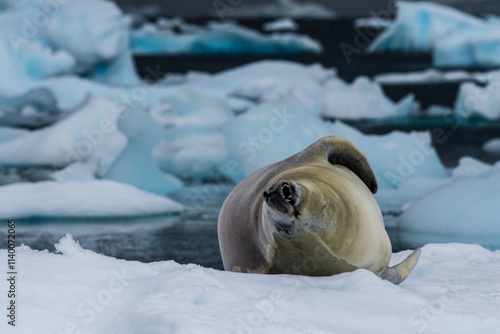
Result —
[[[148,216],[182,205],[113,181],[16,183],[0,187],[2,218]]]

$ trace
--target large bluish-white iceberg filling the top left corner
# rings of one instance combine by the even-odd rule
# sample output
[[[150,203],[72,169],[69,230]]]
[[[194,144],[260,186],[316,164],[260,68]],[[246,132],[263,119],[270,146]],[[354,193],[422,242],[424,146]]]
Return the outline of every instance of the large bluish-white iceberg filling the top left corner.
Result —
[[[21,0],[0,14],[0,32],[2,72],[11,74],[0,72],[0,80],[14,80],[0,90],[19,94],[26,84],[68,73],[113,85],[140,82],[127,19],[113,2]]]

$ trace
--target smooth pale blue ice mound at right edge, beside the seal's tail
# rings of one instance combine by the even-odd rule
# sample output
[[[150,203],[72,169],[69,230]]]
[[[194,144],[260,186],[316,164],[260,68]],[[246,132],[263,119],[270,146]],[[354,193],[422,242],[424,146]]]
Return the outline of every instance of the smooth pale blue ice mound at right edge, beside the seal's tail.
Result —
[[[456,177],[412,203],[400,216],[398,227],[402,231],[432,234],[434,241],[484,237],[489,242],[482,244],[498,246],[500,165],[479,171],[479,175]],[[463,173],[457,176],[460,174]]]

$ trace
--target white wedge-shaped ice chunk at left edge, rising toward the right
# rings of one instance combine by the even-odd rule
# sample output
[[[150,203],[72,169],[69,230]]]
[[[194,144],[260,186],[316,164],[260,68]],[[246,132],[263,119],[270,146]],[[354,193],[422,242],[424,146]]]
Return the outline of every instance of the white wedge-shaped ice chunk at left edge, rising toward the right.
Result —
[[[116,130],[121,112],[108,100],[92,98],[64,120],[0,144],[0,165],[65,167],[93,160],[97,175],[107,170],[126,144]]]

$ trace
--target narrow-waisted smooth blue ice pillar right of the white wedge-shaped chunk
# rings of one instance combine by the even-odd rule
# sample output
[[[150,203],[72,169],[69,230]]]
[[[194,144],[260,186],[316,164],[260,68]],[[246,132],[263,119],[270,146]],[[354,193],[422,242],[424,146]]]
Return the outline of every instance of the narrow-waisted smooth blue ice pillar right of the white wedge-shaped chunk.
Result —
[[[182,187],[181,181],[161,173],[153,161],[153,149],[160,142],[162,131],[145,110],[124,111],[118,118],[118,129],[126,135],[127,146],[107,170],[106,179],[159,195]]]

